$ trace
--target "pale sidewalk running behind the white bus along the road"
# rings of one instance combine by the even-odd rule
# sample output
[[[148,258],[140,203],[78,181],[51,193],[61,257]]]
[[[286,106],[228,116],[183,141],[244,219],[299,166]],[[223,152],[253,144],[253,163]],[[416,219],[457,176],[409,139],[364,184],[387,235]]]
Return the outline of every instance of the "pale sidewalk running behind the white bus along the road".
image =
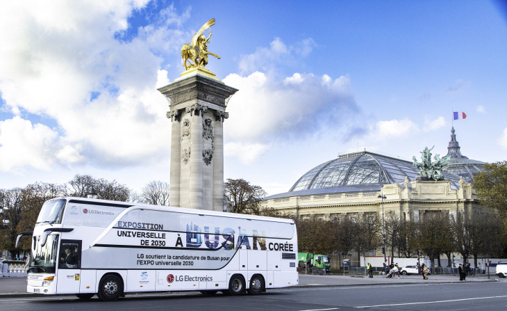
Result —
[[[375,285],[401,285],[401,284],[438,284],[438,283],[464,283],[460,281],[459,276],[451,274],[438,274],[429,276],[429,280],[423,280],[422,276],[400,276],[400,278],[385,278],[385,276],[374,275],[373,278],[368,276],[355,276],[333,274],[326,276],[313,276],[299,274],[299,285],[294,287],[344,287],[344,286],[375,286]],[[497,276],[475,276],[467,278],[466,282],[496,282],[499,281]],[[0,278],[0,299],[1,298],[21,298],[21,297],[38,297],[45,296],[41,294],[29,294],[26,292],[26,278]],[[73,296],[73,295],[65,295]]]

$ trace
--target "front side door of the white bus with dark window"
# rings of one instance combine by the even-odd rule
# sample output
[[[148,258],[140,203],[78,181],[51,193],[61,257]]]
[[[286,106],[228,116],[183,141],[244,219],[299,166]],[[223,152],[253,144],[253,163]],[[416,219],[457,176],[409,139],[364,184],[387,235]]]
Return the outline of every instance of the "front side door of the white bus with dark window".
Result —
[[[79,293],[81,283],[81,241],[60,241],[56,278],[56,294]]]

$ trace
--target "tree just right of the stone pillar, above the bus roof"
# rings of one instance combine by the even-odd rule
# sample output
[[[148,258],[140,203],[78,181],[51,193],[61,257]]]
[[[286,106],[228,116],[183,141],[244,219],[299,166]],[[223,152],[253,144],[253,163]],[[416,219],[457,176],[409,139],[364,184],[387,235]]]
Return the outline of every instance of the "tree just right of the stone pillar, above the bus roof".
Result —
[[[224,183],[225,196],[231,202],[231,212],[238,214],[260,213],[260,201],[267,196],[260,186],[250,184],[246,180],[228,179]]]

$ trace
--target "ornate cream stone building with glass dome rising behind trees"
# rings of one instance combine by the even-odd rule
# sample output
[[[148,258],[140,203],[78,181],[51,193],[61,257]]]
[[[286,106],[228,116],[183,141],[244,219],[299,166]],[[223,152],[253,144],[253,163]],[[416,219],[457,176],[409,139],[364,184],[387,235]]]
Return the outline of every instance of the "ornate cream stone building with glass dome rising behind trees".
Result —
[[[459,149],[452,129],[449,154],[456,168],[467,165]],[[367,150],[351,152],[309,170],[290,191],[264,198],[262,206],[290,214],[317,214],[328,220],[380,216],[382,207],[386,214],[396,212],[405,218],[472,208],[477,203],[472,184],[465,182],[465,177],[460,180],[455,171],[443,172],[444,181],[417,181],[417,168],[410,161]]]

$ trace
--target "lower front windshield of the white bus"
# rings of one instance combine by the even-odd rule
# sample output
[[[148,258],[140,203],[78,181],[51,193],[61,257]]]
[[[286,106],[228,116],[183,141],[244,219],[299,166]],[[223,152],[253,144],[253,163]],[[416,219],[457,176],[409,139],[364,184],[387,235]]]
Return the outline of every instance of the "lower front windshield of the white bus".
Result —
[[[49,234],[44,246],[40,246],[37,238],[33,239],[32,255],[30,256],[30,269],[37,272],[55,273],[58,260],[58,234]],[[35,272],[33,271],[33,272]]]

